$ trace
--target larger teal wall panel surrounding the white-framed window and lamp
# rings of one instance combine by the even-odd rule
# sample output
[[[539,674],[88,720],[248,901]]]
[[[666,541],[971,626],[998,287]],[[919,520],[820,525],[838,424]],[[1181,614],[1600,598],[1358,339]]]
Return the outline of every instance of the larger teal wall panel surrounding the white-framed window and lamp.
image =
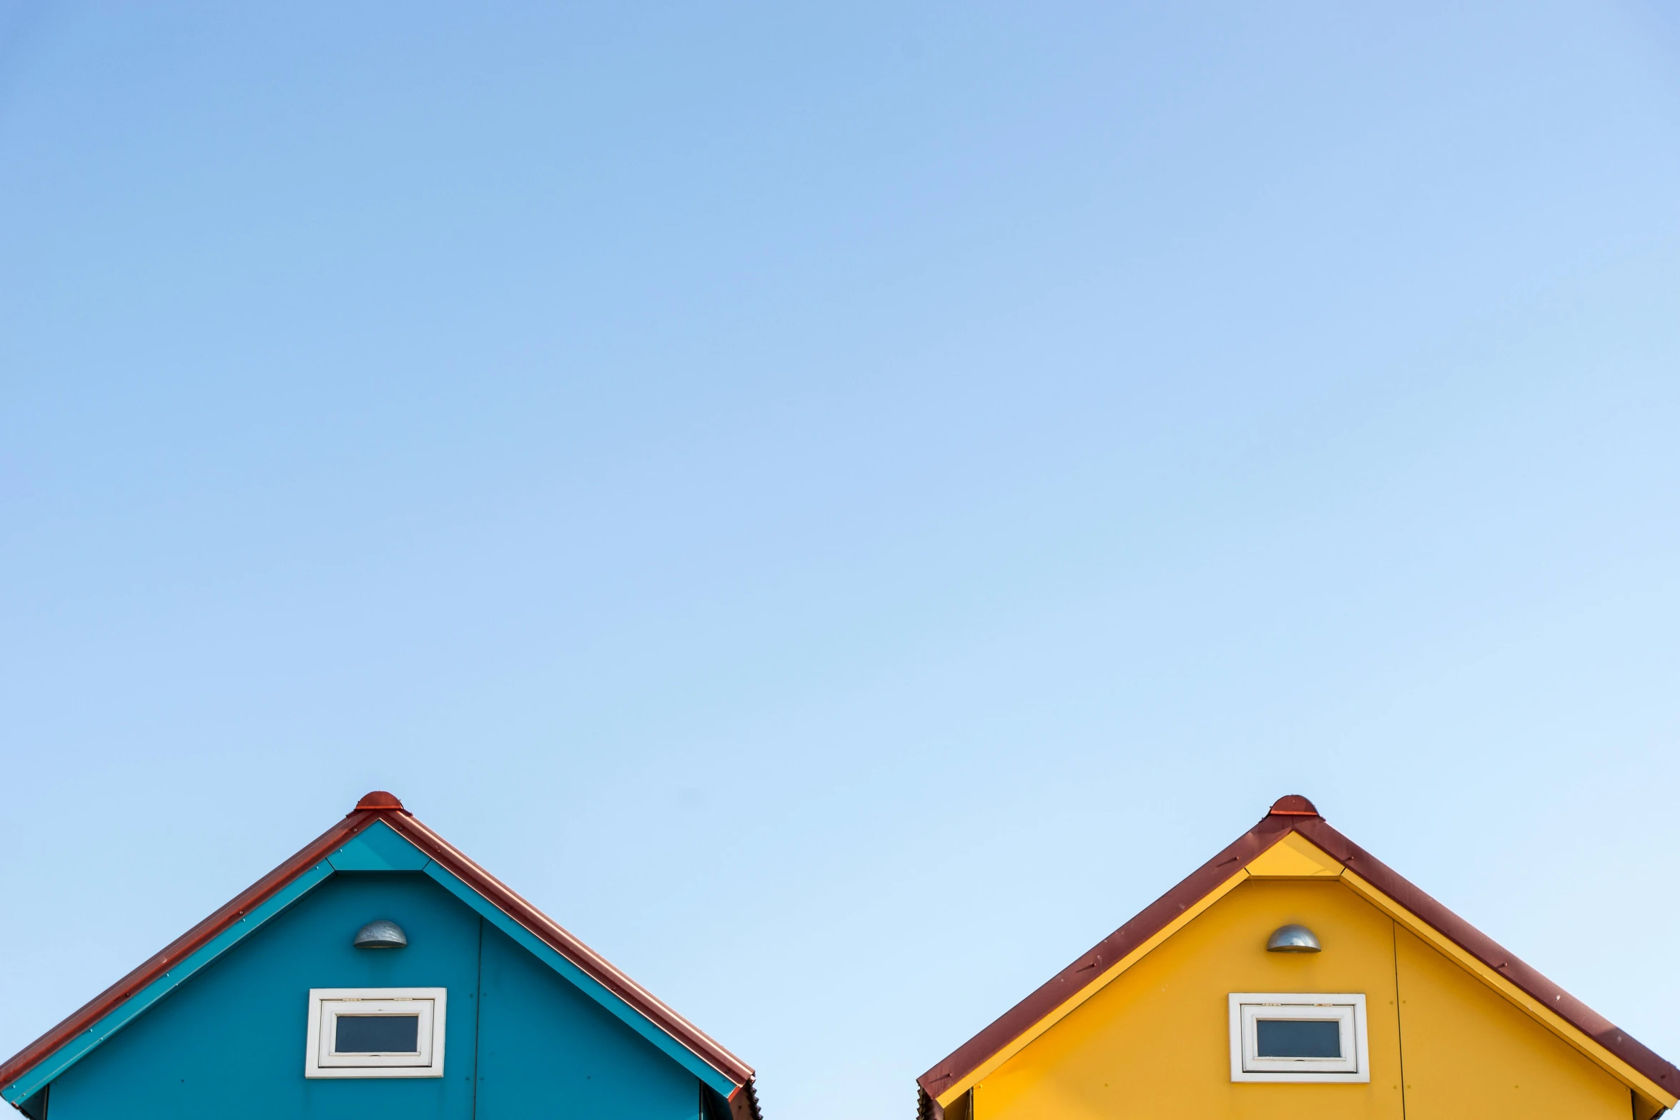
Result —
[[[351,949],[373,919],[407,949]],[[479,917],[425,875],[334,875],[52,1085],[52,1120],[472,1120]],[[304,1078],[311,987],[447,987],[440,1078]]]

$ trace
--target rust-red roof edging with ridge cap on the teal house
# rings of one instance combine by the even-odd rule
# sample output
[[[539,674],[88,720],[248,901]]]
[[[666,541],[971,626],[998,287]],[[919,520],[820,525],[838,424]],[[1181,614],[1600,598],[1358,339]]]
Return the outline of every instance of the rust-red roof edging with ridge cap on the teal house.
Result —
[[[94,996],[67,1019],[13,1055],[5,1065],[0,1065],[0,1085],[15,1081],[29,1073],[35,1065],[52,1056],[69,1039],[76,1038],[79,1033],[108,1016],[121,1006],[123,1001],[168,972],[170,967],[183,957],[202,949],[222,930],[239,922],[239,919],[249,910],[262,905],[265,900],[284,890],[287,883],[326,860],[328,855],[336,851],[349,838],[356,836],[375,821],[385,821],[393,831],[408,840],[440,866],[447,868],[459,880],[489,898],[497,908],[519,922],[524,929],[531,930],[531,934],[546,942],[559,955],[583,969],[610,992],[623,999],[627,1004],[652,1019],[667,1034],[694,1051],[709,1066],[734,1081],[738,1088],[731,1095],[731,1103],[734,1103],[738,1110],[746,1107],[751,1117],[758,1115],[758,1102],[753,1093],[753,1066],[724,1049],[722,1044],[706,1034],[701,1028],[672,1011],[645,987],[613,967],[598,952],[573,937],[551,917],[538,910],[499,878],[469,860],[460,853],[460,850],[415,819],[415,816],[403,808],[402,801],[383,789],[366,794],[356,803],[356,808],[351,809],[343,821],[316,836],[294,856],[281,863],[281,866],[259,878],[220,910],[176,937],[138,969]]]

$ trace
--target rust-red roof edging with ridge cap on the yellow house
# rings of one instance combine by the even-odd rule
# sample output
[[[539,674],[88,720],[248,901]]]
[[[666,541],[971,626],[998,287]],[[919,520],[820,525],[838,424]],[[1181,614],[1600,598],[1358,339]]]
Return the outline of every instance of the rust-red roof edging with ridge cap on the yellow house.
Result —
[[[1519,989],[1556,1011],[1564,1021],[1599,1046],[1643,1073],[1672,1095],[1680,1095],[1680,1070],[1620,1029],[1584,1002],[1517,959],[1509,949],[1423,893],[1399,871],[1331,828],[1310,801],[1299,794],[1278,798],[1260,823],[1238,836],[1225,851],[1191,871],[1178,887],[1144,907],[1137,917],[1097,942],[1038,991],[1005,1011],[979,1034],[958,1046],[932,1070],[916,1078],[932,1098],[979,1068],[988,1058],[1020,1038],[1028,1028],[1060,1007],[1068,997],[1097,981],[1114,962],[1166,929],[1179,913],[1243,868],[1289,833],[1300,833],[1448,940],[1488,966]]]

